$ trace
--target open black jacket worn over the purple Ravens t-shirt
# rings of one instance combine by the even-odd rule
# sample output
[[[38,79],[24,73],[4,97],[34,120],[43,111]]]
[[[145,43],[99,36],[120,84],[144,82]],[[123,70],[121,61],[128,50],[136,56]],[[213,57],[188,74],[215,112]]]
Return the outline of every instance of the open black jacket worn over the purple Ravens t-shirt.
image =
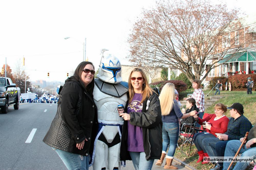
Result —
[[[148,110],[146,110],[147,101],[150,100]],[[128,102],[125,112],[127,113]],[[134,126],[142,127],[143,146],[146,154],[146,160],[160,159],[162,154],[162,115],[158,96],[153,95],[143,101],[142,112],[131,112],[130,123]],[[123,133],[121,138],[120,160],[132,160],[127,151],[128,121],[124,121]]]

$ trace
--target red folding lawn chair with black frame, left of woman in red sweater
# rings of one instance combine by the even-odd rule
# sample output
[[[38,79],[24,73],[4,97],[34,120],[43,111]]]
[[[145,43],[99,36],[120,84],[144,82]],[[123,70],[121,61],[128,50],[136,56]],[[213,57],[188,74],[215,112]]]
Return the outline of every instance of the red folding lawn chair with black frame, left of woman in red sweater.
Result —
[[[209,113],[204,113],[203,119],[204,119],[205,117],[207,117],[208,115],[209,115]],[[199,132],[199,131],[200,131],[200,132],[206,132],[206,130],[203,130],[203,129],[202,129],[202,126],[201,126],[200,128],[198,128],[198,127],[195,127],[195,125],[194,125],[194,126],[191,126],[191,125],[184,125],[184,127],[186,127],[185,133],[181,133],[181,134],[180,134],[180,135],[184,136],[183,142],[182,142],[181,151],[182,151],[182,149],[183,149],[183,145],[184,145],[187,141],[189,141],[189,140],[191,139],[191,141],[189,141],[189,142],[190,142],[190,147],[189,147],[189,153],[188,153],[188,155],[182,151],[182,153],[184,153],[185,155],[189,156],[189,155],[190,155],[190,151],[191,151],[191,146],[192,146],[192,144],[193,144],[193,137],[194,137],[195,131],[198,131],[198,132]],[[187,131],[188,128],[189,128],[189,131]],[[188,132],[188,133],[187,133],[187,132]],[[185,138],[186,138],[186,141],[184,142]]]

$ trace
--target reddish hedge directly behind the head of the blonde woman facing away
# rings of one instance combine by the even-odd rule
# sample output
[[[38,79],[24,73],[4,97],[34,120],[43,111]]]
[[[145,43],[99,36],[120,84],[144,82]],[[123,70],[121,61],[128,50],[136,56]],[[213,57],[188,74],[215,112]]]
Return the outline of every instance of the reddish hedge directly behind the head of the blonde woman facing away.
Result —
[[[164,87],[164,85],[166,83],[173,83],[175,86],[175,89],[178,91],[178,93],[180,91],[185,91],[187,89],[187,84],[184,83],[181,80],[166,80],[166,81],[159,81],[159,82],[155,82],[155,83],[151,83],[150,87],[158,87],[159,91],[161,92],[162,88]]]

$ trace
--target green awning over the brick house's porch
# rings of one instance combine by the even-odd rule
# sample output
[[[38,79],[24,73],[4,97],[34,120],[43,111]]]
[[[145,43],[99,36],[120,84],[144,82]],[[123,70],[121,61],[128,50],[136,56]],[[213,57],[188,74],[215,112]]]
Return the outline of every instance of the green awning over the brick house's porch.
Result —
[[[248,54],[248,58],[247,58]],[[241,53],[228,54],[223,57],[218,63],[230,63],[230,62],[248,62],[248,61],[256,61],[256,52],[255,51],[244,51]]]

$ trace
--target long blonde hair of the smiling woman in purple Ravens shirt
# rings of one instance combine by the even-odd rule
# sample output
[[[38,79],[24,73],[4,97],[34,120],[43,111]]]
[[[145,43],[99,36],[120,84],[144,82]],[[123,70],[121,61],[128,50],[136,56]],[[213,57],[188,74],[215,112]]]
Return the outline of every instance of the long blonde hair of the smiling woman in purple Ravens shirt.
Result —
[[[149,98],[152,94],[153,94],[153,90],[152,88],[150,88],[148,82],[147,82],[147,77],[146,77],[146,74],[144,73],[144,71],[142,69],[139,69],[139,68],[135,68],[131,71],[130,73],[130,76],[129,76],[129,80],[128,80],[128,87],[129,87],[129,103],[132,102],[132,98],[134,96],[134,89],[133,89],[133,86],[132,86],[132,83],[131,83],[131,75],[133,72],[140,72],[142,74],[142,77],[143,77],[143,80],[145,82],[145,86],[143,87],[142,86],[142,100],[141,100],[141,103],[146,100],[146,98]]]

